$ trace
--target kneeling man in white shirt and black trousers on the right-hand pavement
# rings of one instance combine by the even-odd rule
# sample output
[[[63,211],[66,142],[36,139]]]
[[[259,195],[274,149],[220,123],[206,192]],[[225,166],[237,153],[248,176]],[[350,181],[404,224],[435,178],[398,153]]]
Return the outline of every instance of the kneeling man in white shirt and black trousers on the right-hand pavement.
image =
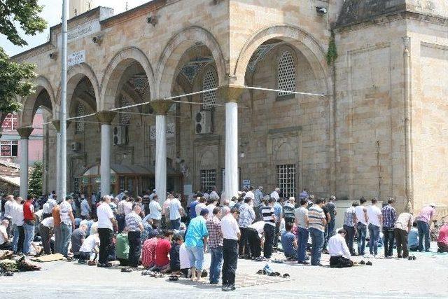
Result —
[[[351,254],[345,242],[346,231],[344,228],[328,240],[328,251],[330,251],[330,267],[344,268],[352,267]]]

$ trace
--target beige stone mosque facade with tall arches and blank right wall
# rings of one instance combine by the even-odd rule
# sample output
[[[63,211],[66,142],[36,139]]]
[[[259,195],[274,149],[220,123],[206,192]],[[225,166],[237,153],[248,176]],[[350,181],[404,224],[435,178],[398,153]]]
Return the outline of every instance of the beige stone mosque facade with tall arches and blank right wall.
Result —
[[[445,0],[155,0],[113,17],[96,8],[69,21],[69,55],[85,51],[69,69],[69,116],[205,87],[277,89],[285,82],[279,64],[288,59],[293,89],[322,96],[244,90],[238,102],[240,183],[271,190],[286,171],[295,173],[291,193],[307,187],[347,200],[396,197],[400,211],[409,203],[414,209],[428,202],[447,207],[448,148],[442,140],[448,81],[440,76],[448,67],[446,6]],[[334,65],[326,61],[331,30],[339,53]],[[38,92],[23,100],[23,127],[36,106],[48,110],[48,120],[58,118],[60,27],[50,36],[13,57],[38,66]],[[201,105],[210,99],[216,106]],[[213,170],[221,190],[225,99],[207,92],[175,100],[167,116],[174,128],[167,161],[183,179],[168,182],[169,188],[197,190],[201,175]],[[213,132],[195,134],[195,116],[204,110],[211,111]],[[127,126],[129,142],[112,147],[111,163],[152,167],[150,105],[118,111],[118,124]],[[55,131],[44,132],[45,147],[54,148]],[[71,122],[68,132],[68,144],[80,144],[68,151],[72,182],[100,162],[101,129],[90,116]],[[55,152],[46,152],[45,186],[52,190]]]

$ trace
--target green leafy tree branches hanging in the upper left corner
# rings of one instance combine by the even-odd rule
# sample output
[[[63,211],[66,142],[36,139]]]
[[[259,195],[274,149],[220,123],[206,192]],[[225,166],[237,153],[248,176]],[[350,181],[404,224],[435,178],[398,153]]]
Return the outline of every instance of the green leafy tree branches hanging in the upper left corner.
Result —
[[[16,46],[27,46],[20,37],[16,25],[27,35],[43,32],[47,22],[39,17],[42,6],[37,0],[0,0],[0,34]],[[27,97],[34,92],[30,79],[34,78],[33,64],[11,62],[0,47],[0,113],[12,113],[22,109],[18,97]]]

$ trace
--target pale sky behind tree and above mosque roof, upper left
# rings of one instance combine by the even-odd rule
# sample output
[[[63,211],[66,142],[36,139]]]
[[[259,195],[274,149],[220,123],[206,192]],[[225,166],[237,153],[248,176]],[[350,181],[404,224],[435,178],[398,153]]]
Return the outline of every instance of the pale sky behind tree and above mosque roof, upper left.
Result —
[[[126,3],[127,8],[132,9],[149,1],[150,0],[97,0],[96,3],[97,6],[111,7],[114,9],[114,13],[118,14],[123,13],[123,11],[126,10]],[[6,39],[6,36],[0,34],[0,47],[2,47],[9,56],[16,55],[45,43],[48,41],[48,36],[50,35],[50,27],[61,22],[62,0],[39,0],[38,3],[39,5],[44,6],[41,16],[47,20],[48,28],[45,29],[43,33],[36,34],[35,36],[26,36],[20,30],[20,36],[25,38],[25,41],[28,43],[28,46],[24,47],[14,46],[13,43],[10,43],[10,41]]]

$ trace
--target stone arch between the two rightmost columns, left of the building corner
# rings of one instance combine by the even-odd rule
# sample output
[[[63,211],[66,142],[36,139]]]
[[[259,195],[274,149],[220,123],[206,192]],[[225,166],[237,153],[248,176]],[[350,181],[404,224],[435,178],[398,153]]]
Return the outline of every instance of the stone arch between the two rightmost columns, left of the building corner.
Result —
[[[155,86],[159,86],[156,97],[169,97],[172,91],[172,85],[176,76],[176,69],[179,64],[179,57],[188,50],[188,48],[195,46],[196,43],[201,43],[207,46],[211,51],[216,63],[218,71],[218,85],[222,85],[225,81],[226,74],[228,74],[225,64],[223,51],[218,41],[211,32],[202,27],[188,27],[177,33],[169,40],[167,46],[160,56],[157,67],[157,77],[155,78]]]

